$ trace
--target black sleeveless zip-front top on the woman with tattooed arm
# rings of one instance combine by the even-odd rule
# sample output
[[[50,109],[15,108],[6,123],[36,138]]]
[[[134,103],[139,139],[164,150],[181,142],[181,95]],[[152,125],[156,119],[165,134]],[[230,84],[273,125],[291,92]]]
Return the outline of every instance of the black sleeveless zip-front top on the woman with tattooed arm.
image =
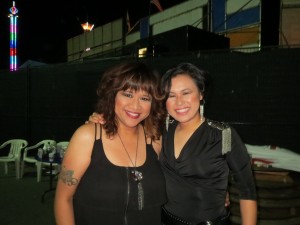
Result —
[[[102,129],[74,195],[75,224],[160,225],[165,180],[152,145],[146,144],[146,161],[137,167],[143,173],[144,207],[139,210],[138,182],[130,177],[132,168],[116,166],[106,158],[101,136]]]

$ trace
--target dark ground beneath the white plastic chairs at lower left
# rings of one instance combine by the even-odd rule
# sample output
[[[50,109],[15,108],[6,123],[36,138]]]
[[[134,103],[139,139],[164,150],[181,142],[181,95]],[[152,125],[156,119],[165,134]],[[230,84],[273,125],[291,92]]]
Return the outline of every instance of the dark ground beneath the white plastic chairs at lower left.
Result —
[[[6,175],[4,164],[0,163],[0,224],[55,225],[54,192],[47,193],[44,203],[41,201],[43,192],[49,188],[49,176],[43,174],[37,183],[34,166],[27,166],[24,172],[24,177],[17,180],[14,164],[9,165]]]

